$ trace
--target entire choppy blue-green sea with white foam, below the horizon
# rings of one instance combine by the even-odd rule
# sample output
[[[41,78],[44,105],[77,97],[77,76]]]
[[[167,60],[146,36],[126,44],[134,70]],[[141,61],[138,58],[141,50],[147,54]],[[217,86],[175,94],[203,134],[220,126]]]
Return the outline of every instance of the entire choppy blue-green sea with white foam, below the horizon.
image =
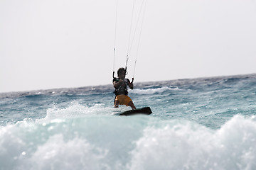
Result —
[[[111,80],[110,80],[111,81]],[[0,169],[256,169],[256,74],[0,94]]]

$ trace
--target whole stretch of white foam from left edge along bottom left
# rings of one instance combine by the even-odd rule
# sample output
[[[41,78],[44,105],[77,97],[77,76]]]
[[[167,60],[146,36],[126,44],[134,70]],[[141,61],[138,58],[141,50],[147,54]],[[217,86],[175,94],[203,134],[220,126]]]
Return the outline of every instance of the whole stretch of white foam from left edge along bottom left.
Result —
[[[85,139],[64,140],[59,134],[42,144],[34,143],[36,139],[26,143],[14,128],[9,130],[11,137],[6,134],[0,140],[0,169],[109,169],[102,162],[107,150],[90,145]]]

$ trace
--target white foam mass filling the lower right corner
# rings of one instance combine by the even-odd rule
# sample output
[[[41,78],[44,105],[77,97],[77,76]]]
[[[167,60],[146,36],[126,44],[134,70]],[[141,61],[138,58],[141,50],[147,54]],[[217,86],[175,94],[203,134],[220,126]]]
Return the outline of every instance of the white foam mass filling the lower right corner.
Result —
[[[236,115],[220,130],[187,125],[146,128],[129,169],[255,169],[256,123]]]

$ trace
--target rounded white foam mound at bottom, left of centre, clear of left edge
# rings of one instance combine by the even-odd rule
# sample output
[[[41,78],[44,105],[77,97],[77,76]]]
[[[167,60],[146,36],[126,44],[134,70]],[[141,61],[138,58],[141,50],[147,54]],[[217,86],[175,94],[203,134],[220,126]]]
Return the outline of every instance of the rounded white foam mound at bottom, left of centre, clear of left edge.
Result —
[[[30,169],[109,169],[107,164],[102,164],[106,154],[107,150],[79,137],[65,141],[63,135],[53,135],[36,149],[28,162]]]

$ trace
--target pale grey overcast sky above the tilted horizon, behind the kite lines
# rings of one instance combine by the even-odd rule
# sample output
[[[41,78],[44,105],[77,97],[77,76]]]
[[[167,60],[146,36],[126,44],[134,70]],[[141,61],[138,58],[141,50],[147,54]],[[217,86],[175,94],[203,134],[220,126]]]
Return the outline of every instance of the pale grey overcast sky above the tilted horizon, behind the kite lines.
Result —
[[[112,84],[113,63],[125,66],[133,1],[118,1],[114,62],[116,2],[1,0],[0,92]],[[147,0],[129,79],[136,56],[135,84],[256,73],[256,2]]]

